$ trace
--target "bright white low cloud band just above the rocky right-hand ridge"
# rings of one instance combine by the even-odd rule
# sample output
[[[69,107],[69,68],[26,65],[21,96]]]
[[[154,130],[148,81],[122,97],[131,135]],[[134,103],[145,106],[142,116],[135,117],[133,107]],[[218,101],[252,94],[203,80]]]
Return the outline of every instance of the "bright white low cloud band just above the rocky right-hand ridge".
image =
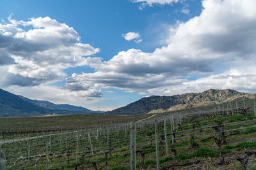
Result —
[[[256,74],[254,66],[236,67],[224,73],[213,74],[198,80],[186,81],[172,88],[158,89],[160,94],[182,94],[186,92],[202,92],[208,89],[236,89],[241,92],[255,92]]]

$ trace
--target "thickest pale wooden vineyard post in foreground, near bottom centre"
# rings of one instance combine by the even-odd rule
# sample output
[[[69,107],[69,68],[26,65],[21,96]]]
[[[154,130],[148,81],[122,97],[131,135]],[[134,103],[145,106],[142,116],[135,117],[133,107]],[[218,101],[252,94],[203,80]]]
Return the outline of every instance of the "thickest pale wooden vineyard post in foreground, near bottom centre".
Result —
[[[131,170],[136,170],[136,134],[135,123],[131,122]]]

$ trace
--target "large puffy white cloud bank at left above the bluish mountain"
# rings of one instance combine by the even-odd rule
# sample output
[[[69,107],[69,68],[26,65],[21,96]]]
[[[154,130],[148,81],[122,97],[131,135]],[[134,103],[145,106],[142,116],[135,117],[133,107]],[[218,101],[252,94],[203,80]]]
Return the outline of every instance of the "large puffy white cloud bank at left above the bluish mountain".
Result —
[[[97,52],[99,48],[81,43],[73,27],[50,17],[28,21],[8,17],[7,24],[0,24],[0,67],[6,71],[1,76],[8,76],[7,85],[61,80],[63,69],[99,62],[99,58],[85,57]]]

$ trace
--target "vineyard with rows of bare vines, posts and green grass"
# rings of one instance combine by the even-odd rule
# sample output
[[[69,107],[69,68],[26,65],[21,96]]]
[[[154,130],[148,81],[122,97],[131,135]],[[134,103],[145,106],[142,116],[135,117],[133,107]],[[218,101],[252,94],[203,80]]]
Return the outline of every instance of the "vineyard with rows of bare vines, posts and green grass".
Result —
[[[255,99],[155,115],[1,118],[2,169],[256,169]],[[1,169],[1,168],[0,168]]]

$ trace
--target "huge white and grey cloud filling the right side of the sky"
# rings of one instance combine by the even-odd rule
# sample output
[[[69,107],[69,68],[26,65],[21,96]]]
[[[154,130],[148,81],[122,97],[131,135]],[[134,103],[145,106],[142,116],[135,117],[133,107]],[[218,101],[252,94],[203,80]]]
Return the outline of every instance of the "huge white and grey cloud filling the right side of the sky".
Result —
[[[195,91],[196,87],[200,91],[255,89],[253,85],[241,83],[243,77],[255,77],[255,72],[241,72],[237,76],[234,71],[243,67],[244,60],[255,67],[256,2],[204,0],[202,6],[204,9],[198,17],[170,27],[168,45],[151,53],[138,49],[119,52],[111,60],[95,63],[95,73],[73,74],[66,79],[66,87],[72,89],[72,83],[76,83],[78,87],[85,85],[98,90],[117,88],[165,95]],[[230,71],[218,73],[220,64]],[[211,76],[189,80],[194,74]]]

